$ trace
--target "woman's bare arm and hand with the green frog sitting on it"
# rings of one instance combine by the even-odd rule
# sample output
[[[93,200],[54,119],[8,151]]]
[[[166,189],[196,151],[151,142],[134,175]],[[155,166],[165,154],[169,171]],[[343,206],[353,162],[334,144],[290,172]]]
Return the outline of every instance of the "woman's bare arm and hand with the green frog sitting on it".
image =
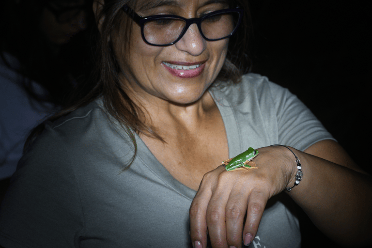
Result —
[[[304,177],[288,194],[341,245],[371,243],[371,177],[335,141],[318,142],[306,153],[291,149],[301,160]],[[204,176],[190,207],[194,245],[200,241],[206,247],[207,230],[214,248],[239,248],[242,238],[248,244],[257,233],[267,200],[294,185],[297,168],[288,149],[264,147],[259,152],[254,159],[259,169],[226,171],[220,166]]]

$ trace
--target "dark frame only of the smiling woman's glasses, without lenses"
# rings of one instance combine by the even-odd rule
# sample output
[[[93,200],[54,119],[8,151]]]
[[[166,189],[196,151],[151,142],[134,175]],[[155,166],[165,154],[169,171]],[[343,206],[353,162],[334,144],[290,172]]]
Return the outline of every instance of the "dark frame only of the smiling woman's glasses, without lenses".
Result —
[[[243,14],[244,14],[244,10],[241,9],[239,6],[236,7],[235,9],[217,10],[217,11],[208,13],[205,16],[194,17],[194,18],[185,18],[185,17],[182,17],[182,16],[175,16],[175,15],[155,15],[155,16],[145,16],[145,17],[142,17],[142,16],[138,15],[127,4],[124,4],[124,6],[122,7],[122,10],[124,11],[124,13],[126,13],[128,16],[130,16],[138,25],[140,25],[142,39],[147,44],[149,44],[151,46],[155,46],[155,47],[168,47],[168,46],[171,46],[171,45],[177,43],[185,35],[186,31],[191,26],[191,24],[194,24],[194,23],[198,26],[198,29],[199,29],[200,34],[202,35],[203,39],[205,39],[206,41],[218,41],[218,40],[223,40],[223,39],[229,38],[229,37],[233,36],[233,34],[239,28],[240,23],[242,22],[242,19],[243,19]],[[238,21],[236,23],[236,26],[235,26],[234,30],[229,35],[226,35],[225,37],[218,38],[218,39],[208,39],[207,37],[205,37],[205,35],[202,32],[202,27],[201,27],[202,21],[204,19],[206,19],[208,17],[211,17],[211,16],[215,16],[215,15],[219,15],[219,14],[224,14],[224,13],[232,13],[232,12],[237,12],[239,14],[239,18],[238,18]],[[148,42],[146,40],[146,38],[145,38],[145,34],[144,34],[144,31],[143,31],[144,30],[145,23],[148,22],[148,21],[152,21],[152,20],[156,20],[156,19],[163,19],[163,18],[181,19],[181,20],[183,20],[183,21],[186,22],[186,25],[185,25],[183,31],[181,32],[180,36],[175,41],[173,41],[171,43],[168,43],[168,44],[165,44],[165,45],[157,45],[157,44],[152,44],[152,43]]]

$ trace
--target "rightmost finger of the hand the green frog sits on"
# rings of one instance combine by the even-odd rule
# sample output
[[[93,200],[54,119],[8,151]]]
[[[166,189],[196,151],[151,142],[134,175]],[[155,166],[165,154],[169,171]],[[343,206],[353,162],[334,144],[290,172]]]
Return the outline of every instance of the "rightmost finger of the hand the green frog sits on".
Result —
[[[244,245],[248,246],[256,236],[268,194],[260,190],[252,190],[248,199],[247,219],[243,231]]]

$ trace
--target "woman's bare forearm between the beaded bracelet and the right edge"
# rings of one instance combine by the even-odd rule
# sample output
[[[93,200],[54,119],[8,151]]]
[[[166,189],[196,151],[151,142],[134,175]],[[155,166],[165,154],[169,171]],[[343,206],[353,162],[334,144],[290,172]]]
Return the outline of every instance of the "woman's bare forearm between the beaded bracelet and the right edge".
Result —
[[[371,177],[314,155],[296,153],[304,176],[288,194],[319,230],[340,244],[356,246],[371,240]]]

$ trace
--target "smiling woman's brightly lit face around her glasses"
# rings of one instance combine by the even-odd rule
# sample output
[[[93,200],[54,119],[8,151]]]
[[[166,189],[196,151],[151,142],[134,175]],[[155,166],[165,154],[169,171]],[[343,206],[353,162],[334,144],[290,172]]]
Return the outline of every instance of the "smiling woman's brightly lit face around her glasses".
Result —
[[[171,14],[193,18],[229,7],[223,1],[156,1],[159,2],[161,4],[153,6],[153,1],[139,0],[135,12],[140,16]],[[140,101],[161,99],[190,104],[199,100],[216,79],[226,57],[228,39],[205,41],[197,25],[192,24],[174,45],[155,47],[143,41],[140,26],[133,22],[127,53],[122,52],[124,41],[120,35],[115,39],[114,47],[126,76],[121,74],[129,95],[134,94]]]

